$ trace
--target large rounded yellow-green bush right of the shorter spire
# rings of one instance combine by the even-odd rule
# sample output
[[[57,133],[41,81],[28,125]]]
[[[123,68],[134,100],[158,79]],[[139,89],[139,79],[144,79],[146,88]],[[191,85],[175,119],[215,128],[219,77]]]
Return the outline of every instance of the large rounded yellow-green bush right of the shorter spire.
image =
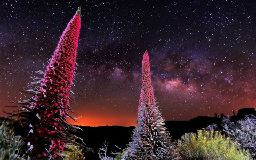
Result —
[[[177,150],[184,160],[252,159],[248,151],[241,149],[218,131],[197,130],[197,134],[187,133],[178,141]]]

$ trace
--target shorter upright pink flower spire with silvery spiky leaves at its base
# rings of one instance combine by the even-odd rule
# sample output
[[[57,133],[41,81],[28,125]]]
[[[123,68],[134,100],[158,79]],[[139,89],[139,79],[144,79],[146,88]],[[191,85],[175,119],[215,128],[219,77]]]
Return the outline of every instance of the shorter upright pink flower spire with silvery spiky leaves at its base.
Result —
[[[142,90],[137,127],[127,149],[126,159],[170,159],[171,142],[164,119],[156,105],[146,51],[142,61]]]

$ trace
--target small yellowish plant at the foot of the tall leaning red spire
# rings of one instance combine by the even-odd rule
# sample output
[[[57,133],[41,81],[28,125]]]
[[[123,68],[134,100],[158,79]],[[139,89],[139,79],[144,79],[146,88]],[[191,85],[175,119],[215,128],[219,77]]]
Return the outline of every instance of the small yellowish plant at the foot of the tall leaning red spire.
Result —
[[[75,146],[73,144],[66,144],[66,147],[73,151],[64,151],[63,153],[69,157],[64,157],[65,160],[84,160],[84,154],[82,149],[79,146]]]

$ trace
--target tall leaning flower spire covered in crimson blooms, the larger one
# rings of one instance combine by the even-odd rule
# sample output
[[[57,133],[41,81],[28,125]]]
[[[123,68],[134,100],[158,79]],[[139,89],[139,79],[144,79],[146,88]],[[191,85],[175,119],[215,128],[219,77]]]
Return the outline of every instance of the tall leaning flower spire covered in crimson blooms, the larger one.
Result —
[[[17,103],[23,110],[17,114],[22,127],[17,132],[27,138],[27,152],[35,159],[62,159],[60,152],[69,150],[66,142],[76,139],[69,131],[78,128],[70,125],[67,117],[70,91],[73,84],[78,36],[81,25],[81,8],[63,31],[58,46],[45,71],[44,77],[38,79],[38,86],[33,90],[32,98]]]

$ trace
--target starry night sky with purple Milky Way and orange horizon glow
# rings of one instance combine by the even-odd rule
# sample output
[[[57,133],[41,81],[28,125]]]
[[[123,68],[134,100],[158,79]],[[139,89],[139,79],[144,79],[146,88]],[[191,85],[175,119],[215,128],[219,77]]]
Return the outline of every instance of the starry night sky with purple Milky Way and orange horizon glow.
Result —
[[[164,119],[256,107],[256,1],[1,1],[0,109],[43,76],[78,6],[72,106],[83,117],[69,122],[135,125],[145,50]]]

